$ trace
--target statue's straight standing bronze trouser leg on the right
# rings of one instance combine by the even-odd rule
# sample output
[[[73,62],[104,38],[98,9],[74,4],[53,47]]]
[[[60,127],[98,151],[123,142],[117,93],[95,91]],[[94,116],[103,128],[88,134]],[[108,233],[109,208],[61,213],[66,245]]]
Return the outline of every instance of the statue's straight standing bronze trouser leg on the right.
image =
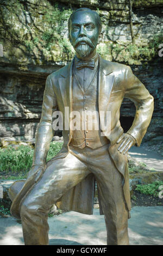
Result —
[[[128,210],[123,194],[123,176],[111,160],[108,145],[87,149],[87,166],[95,175],[107,231],[107,245],[128,245]]]

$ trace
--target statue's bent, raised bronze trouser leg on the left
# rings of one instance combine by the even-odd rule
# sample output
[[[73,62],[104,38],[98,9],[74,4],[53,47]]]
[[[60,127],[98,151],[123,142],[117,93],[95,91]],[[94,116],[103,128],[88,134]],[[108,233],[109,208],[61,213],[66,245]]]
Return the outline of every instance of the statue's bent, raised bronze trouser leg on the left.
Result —
[[[40,181],[26,194],[20,204],[25,245],[48,245],[48,212],[51,206],[76,186],[90,172],[84,163],[70,153],[47,167]]]

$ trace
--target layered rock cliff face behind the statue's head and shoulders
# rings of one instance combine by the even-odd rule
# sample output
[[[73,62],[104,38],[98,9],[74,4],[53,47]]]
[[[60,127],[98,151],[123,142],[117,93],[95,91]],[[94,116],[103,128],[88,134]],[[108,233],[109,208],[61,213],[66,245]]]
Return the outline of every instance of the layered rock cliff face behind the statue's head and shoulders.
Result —
[[[162,135],[163,57],[158,53],[159,45],[163,44],[163,0],[133,2],[134,45],[128,0],[1,0],[0,138],[34,137],[46,77],[74,56],[67,39],[67,20],[79,7],[96,10],[101,16],[104,35],[98,52],[105,59],[130,65],[154,96],[153,120],[145,140]],[[134,112],[134,104],[124,99],[121,107],[124,130],[133,121]]]

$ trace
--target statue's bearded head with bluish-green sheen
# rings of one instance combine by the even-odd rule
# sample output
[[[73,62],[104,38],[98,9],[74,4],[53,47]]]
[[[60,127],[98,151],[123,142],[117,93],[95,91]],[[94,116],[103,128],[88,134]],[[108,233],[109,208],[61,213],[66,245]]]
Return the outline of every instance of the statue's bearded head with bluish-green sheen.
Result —
[[[80,8],[68,20],[68,37],[79,58],[96,53],[96,46],[102,38],[102,23],[96,11]]]

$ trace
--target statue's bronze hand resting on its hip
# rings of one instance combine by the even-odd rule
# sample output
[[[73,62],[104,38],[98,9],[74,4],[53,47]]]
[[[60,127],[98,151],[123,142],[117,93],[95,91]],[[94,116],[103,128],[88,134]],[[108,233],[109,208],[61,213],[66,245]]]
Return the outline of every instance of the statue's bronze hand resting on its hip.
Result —
[[[122,142],[121,142],[122,141]],[[128,133],[123,133],[121,135],[120,138],[118,138],[117,140],[117,144],[120,143],[120,146],[118,147],[118,151],[120,151],[120,153],[126,154],[127,151],[133,146],[135,145],[136,141],[135,139],[129,135]]]

